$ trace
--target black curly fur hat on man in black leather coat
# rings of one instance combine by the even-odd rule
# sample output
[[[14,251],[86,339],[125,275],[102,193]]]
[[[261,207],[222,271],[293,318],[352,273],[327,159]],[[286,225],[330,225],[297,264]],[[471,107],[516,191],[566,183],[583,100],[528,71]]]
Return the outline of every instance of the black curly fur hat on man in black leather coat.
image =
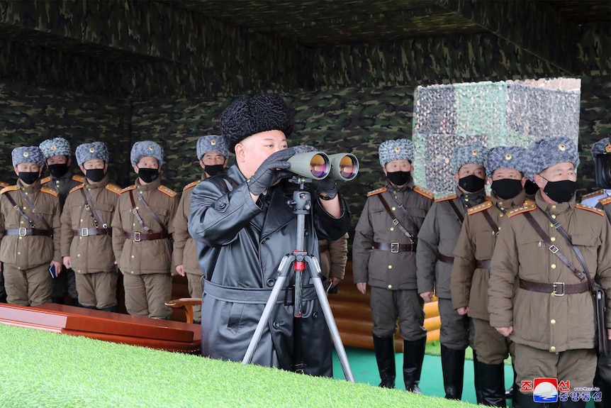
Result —
[[[232,101],[220,115],[220,132],[229,150],[248,136],[265,131],[293,133],[293,111],[278,94],[245,95]]]

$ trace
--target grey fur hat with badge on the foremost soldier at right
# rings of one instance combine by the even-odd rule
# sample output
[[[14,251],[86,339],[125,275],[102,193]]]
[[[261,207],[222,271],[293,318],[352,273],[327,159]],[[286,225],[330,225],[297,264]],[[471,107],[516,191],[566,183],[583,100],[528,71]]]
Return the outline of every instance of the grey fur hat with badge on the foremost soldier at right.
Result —
[[[575,169],[579,166],[577,146],[565,136],[534,140],[526,150],[524,160],[524,175],[530,180],[549,166],[561,162],[573,163]]]

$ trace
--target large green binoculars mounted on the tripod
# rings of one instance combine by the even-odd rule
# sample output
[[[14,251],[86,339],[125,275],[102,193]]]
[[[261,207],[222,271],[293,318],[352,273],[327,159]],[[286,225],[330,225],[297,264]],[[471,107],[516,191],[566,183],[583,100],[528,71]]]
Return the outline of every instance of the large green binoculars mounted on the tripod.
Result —
[[[357,177],[359,172],[359,160],[350,153],[299,153],[288,159],[288,162],[291,167],[286,170],[313,180],[323,180],[331,174],[337,180],[349,181]]]

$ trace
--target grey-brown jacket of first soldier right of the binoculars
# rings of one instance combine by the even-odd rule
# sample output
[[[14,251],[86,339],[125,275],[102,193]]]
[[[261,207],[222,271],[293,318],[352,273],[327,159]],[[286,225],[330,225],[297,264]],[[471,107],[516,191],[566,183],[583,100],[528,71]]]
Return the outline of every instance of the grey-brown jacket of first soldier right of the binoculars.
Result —
[[[383,190],[383,189],[382,189]],[[374,243],[410,244],[410,238],[393,224],[393,219],[380,201],[381,194],[393,210],[393,214],[417,241],[417,235],[425,221],[427,211],[433,204],[432,193],[410,182],[402,189],[391,183],[386,190],[370,192],[361,218],[354,231],[352,247],[352,270],[354,282],[367,282],[371,286],[389,290],[416,290],[416,253],[373,249]],[[399,204],[403,204],[403,209]]]

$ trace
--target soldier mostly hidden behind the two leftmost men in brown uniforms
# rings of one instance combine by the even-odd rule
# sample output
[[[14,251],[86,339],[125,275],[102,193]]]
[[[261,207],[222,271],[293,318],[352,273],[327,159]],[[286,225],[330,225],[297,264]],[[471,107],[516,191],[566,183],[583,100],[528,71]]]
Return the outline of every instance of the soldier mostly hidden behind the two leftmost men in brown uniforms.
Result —
[[[40,180],[40,185],[55,189],[60,194],[60,208],[63,209],[70,190],[83,184],[85,179],[83,176],[72,175],[72,172],[69,171],[72,151],[68,140],[65,138],[47,139],[38,147],[45,155],[45,165],[50,173],[50,176]],[[63,303],[66,293],[72,298],[72,304],[78,306],[79,294],[77,283],[74,280],[74,271],[62,267],[62,273],[53,280],[52,301]]]

